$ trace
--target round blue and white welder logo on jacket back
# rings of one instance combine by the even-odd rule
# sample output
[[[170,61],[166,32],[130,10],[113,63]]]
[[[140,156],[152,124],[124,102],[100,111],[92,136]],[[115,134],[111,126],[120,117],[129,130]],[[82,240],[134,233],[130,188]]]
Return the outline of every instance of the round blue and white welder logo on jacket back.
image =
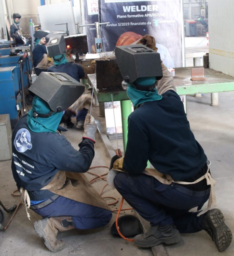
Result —
[[[25,152],[27,149],[31,149],[33,145],[30,141],[30,132],[25,128],[19,129],[14,140],[16,150],[18,152]]]

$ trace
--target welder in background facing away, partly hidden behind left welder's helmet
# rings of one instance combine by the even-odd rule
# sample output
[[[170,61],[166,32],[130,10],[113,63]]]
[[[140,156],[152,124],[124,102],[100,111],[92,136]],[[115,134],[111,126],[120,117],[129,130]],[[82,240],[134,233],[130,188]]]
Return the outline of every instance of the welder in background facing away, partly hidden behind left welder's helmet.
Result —
[[[51,37],[47,50],[49,56],[53,57],[54,60],[54,65],[48,69],[49,72],[63,72],[80,82],[81,78],[87,78],[87,74],[93,74],[95,71],[95,61],[92,61],[90,66],[67,62],[66,42],[63,35]],[[88,108],[90,108],[90,103],[88,103],[91,102],[90,98],[90,94],[83,95],[72,108],[65,112],[62,121],[64,121],[67,128],[73,127],[71,116],[74,114],[76,115],[76,128],[78,130],[83,129],[84,120],[88,113]]]

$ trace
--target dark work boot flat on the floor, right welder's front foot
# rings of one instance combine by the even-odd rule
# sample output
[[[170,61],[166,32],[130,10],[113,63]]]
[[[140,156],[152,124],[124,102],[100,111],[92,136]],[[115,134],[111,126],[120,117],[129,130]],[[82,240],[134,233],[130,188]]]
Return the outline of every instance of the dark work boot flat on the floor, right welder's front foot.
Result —
[[[177,243],[181,236],[174,224],[167,226],[151,226],[144,233],[134,237],[134,243],[139,247],[153,247],[160,243]]]

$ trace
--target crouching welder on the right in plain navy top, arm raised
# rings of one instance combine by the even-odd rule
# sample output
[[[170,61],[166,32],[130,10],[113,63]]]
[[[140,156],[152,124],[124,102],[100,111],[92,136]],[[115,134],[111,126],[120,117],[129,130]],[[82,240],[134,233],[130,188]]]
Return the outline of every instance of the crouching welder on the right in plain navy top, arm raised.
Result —
[[[144,39],[155,49],[150,36],[141,43]],[[117,172],[114,185],[151,225],[145,234],[134,237],[135,244],[176,243],[180,233],[205,229],[218,250],[224,251],[232,233],[221,210],[199,212],[208,199],[209,207],[212,199],[215,205],[215,181],[204,150],[190,130],[172,75],[159,54],[144,45],[117,46],[115,56],[123,87],[137,109],[128,117],[124,158],[114,163],[114,169],[124,171]],[[155,169],[145,170],[148,160]],[[193,207],[198,212],[189,212]]]

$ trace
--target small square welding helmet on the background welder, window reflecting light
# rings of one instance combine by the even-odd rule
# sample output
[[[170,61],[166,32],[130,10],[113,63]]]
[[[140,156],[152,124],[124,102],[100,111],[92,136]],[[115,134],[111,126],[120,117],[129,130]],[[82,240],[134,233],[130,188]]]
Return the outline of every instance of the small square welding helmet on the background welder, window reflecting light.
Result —
[[[54,57],[56,55],[63,55],[66,52],[66,42],[64,36],[57,35],[51,37],[46,48],[50,57]]]

